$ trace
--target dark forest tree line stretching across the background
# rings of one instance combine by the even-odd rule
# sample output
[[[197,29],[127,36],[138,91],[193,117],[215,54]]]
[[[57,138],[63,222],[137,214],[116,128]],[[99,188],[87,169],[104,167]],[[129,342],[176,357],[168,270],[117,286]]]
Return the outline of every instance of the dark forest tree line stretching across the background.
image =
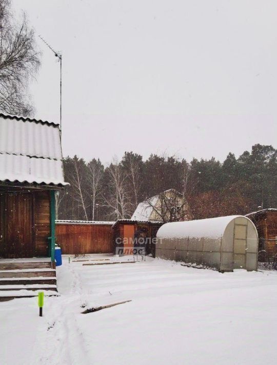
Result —
[[[271,145],[255,144],[239,158],[229,153],[223,163],[155,154],[143,161],[125,152],[104,167],[99,159],[74,156],[64,159],[64,173],[70,186],[56,197],[63,220],[130,218],[138,203],[171,188],[184,194],[195,219],[277,207],[277,150]]]

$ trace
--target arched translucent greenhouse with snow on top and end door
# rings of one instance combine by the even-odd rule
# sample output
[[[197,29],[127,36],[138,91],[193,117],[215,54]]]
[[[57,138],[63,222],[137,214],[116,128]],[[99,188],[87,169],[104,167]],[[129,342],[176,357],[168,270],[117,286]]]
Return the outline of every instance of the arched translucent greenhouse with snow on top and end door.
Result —
[[[172,222],[157,231],[156,257],[219,271],[258,266],[258,233],[245,216]]]

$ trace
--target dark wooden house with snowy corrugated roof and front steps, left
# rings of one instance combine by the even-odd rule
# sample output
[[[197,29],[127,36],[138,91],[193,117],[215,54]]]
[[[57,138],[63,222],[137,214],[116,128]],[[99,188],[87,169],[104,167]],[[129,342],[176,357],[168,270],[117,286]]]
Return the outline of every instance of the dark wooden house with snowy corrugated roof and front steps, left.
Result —
[[[11,289],[55,286],[55,192],[65,185],[59,125],[0,114],[0,295],[14,275]]]

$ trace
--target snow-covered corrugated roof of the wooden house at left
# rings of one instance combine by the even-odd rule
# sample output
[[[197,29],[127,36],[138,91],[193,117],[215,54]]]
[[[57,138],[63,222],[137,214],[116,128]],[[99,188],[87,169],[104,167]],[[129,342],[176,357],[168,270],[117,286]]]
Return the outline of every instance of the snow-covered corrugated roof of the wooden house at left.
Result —
[[[58,124],[0,113],[0,180],[67,185]]]

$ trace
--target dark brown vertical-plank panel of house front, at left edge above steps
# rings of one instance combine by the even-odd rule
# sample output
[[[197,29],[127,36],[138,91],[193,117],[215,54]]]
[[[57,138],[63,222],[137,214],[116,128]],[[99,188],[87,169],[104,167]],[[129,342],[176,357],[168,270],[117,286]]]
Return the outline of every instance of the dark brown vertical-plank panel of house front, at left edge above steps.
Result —
[[[2,258],[34,256],[31,193],[6,193],[0,200],[0,255]]]

